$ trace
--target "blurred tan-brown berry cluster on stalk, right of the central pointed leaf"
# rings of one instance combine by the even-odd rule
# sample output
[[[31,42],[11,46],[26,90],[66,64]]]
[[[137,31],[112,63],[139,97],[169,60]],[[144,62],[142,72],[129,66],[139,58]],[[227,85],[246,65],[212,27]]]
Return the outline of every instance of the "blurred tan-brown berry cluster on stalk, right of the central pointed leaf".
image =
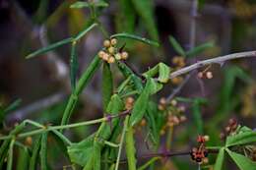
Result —
[[[168,102],[166,98],[160,98],[159,110],[163,112],[167,120],[165,125],[160,130],[160,135],[165,134],[166,128],[172,128],[187,120],[186,116],[184,115],[185,107],[177,106],[177,104],[177,101],[174,99]]]

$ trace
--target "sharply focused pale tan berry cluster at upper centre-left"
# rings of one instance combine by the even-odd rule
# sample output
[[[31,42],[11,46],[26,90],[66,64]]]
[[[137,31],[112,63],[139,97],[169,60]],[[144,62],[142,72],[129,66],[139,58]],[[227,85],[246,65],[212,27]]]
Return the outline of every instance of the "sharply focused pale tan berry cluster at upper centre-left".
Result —
[[[98,52],[98,57],[107,63],[114,63],[116,60],[126,60],[128,53],[126,51],[119,51],[116,48],[117,39],[106,39],[103,42],[104,49]]]

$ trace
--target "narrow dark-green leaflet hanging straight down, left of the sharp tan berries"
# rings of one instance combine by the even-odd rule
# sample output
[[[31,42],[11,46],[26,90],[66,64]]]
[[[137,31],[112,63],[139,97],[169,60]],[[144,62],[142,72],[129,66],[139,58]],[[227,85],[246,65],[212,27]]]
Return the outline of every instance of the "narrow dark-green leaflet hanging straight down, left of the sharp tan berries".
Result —
[[[70,82],[72,91],[75,90],[77,82],[77,73],[78,73],[78,54],[76,49],[76,41],[73,41],[71,46],[71,55],[70,55]]]

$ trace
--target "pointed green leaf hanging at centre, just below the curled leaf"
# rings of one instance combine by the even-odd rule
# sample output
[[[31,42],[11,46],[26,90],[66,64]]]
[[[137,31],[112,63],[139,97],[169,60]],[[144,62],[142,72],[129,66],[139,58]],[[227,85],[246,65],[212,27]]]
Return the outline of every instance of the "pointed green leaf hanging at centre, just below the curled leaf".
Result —
[[[154,79],[149,78],[147,80],[147,84],[145,88],[143,89],[138,99],[135,101],[135,104],[131,113],[131,117],[129,120],[129,124],[131,126],[136,125],[138,122],[142,120],[144,114],[146,113],[150,95],[158,92],[161,87],[162,85],[160,85],[159,83],[156,83]]]

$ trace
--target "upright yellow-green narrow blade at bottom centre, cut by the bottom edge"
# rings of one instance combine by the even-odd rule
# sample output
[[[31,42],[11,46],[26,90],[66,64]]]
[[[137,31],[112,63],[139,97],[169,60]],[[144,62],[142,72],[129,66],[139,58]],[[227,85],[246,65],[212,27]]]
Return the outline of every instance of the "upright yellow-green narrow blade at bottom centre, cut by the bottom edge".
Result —
[[[125,135],[125,148],[126,156],[128,161],[128,169],[136,170],[136,157],[135,157],[135,146],[134,146],[134,136],[133,127],[130,126]]]

